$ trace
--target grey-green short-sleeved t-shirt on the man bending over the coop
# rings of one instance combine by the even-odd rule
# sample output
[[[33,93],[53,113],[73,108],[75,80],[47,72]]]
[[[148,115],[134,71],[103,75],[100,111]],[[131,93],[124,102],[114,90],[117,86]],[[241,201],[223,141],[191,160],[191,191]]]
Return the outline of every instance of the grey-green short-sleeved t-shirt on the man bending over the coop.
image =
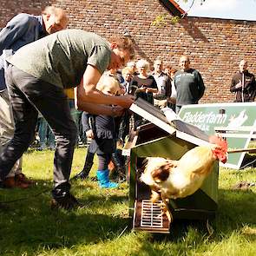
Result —
[[[108,68],[111,49],[95,33],[62,30],[29,43],[7,61],[24,72],[62,88],[73,88],[88,64],[102,74]]]

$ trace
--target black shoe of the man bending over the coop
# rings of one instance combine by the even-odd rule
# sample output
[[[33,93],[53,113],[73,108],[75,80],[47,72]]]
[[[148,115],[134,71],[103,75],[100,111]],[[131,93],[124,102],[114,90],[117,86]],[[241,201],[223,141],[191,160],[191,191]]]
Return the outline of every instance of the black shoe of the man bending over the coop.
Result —
[[[52,199],[50,204],[51,209],[63,208],[65,210],[73,210],[82,205],[75,199],[73,194],[67,194],[62,198]]]

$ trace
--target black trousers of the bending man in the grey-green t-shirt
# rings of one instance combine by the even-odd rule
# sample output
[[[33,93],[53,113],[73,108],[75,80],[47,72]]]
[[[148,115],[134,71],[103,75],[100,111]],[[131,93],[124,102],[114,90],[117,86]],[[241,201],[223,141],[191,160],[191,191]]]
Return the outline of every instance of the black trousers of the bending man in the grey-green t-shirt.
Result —
[[[6,75],[15,133],[0,155],[0,178],[3,180],[9,174],[16,160],[29,148],[35,136],[37,114],[40,111],[56,137],[53,196],[65,196],[70,188],[69,175],[77,135],[67,96],[62,88],[43,82],[12,65]]]

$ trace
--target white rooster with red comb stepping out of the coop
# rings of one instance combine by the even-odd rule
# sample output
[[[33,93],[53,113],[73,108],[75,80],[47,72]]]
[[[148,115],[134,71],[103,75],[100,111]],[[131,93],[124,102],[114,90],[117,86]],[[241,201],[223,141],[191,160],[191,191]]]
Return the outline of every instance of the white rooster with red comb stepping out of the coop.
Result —
[[[211,136],[209,141],[213,144],[195,147],[187,151],[179,161],[161,157],[147,158],[148,163],[140,180],[151,188],[153,202],[161,196],[170,222],[173,217],[167,200],[194,194],[213,170],[214,161],[226,162],[226,141],[217,136]]]

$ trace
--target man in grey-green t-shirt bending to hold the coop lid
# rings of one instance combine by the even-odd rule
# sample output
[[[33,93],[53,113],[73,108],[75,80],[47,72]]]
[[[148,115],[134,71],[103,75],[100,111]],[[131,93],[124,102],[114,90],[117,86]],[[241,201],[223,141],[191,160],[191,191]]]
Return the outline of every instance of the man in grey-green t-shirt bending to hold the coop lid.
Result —
[[[95,89],[105,69],[118,69],[133,54],[128,38],[112,36],[107,42],[95,33],[63,30],[30,43],[7,58],[7,82],[15,116],[13,139],[0,155],[3,181],[34,138],[37,109],[56,137],[52,207],[79,206],[70,194],[69,175],[77,129],[64,89],[75,87],[78,109],[91,114],[121,115],[133,97],[104,95]],[[106,106],[102,104],[114,104]],[[117,106],[120,105],[120,106]]]

